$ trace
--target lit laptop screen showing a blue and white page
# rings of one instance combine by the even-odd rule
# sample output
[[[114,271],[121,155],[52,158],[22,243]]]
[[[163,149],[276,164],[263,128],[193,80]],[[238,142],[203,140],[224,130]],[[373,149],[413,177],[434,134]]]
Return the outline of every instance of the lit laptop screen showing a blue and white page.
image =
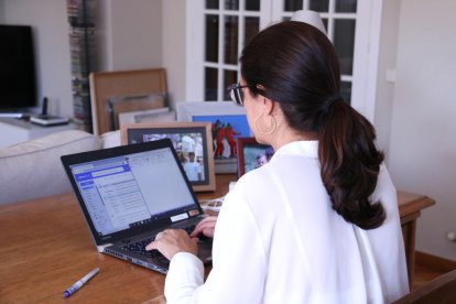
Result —
[[[196,208],[170,148],[70,166],[100,236]]]

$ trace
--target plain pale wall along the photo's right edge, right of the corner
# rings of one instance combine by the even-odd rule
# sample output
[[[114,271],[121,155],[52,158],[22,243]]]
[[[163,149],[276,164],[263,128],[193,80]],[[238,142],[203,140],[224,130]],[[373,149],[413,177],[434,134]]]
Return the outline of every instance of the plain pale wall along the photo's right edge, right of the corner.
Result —
[[[417,249],[456,260],[456,1],[402,0],[389,169],[398,188],[436,205],[417,225]]]

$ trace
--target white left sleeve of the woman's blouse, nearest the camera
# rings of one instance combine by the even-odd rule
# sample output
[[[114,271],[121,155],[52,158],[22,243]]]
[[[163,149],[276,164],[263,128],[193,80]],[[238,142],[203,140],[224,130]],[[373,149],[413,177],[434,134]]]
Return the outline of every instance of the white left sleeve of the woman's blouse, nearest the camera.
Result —
[[[225,198],[214,236],[213,270],[205,284],[204,271],[189,253],[172,259],[165,282],[167,303],[261,302],[265,253],[257,221],[239,192]]]

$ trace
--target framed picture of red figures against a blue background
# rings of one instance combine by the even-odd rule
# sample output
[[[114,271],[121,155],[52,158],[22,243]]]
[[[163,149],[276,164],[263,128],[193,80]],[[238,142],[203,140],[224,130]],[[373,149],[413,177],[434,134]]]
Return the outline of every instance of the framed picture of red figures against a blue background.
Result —
[[[252,134],[243,107],[228,101],[180,102],[177,120],[210,122],[216,173],[237,172],[237,139]]]

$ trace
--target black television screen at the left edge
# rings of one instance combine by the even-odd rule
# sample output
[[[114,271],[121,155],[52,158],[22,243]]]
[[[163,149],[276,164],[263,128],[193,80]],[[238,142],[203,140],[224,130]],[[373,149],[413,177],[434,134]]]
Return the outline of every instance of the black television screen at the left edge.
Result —
[[[0,110],[36,106],[32,28],[0,25]]]

